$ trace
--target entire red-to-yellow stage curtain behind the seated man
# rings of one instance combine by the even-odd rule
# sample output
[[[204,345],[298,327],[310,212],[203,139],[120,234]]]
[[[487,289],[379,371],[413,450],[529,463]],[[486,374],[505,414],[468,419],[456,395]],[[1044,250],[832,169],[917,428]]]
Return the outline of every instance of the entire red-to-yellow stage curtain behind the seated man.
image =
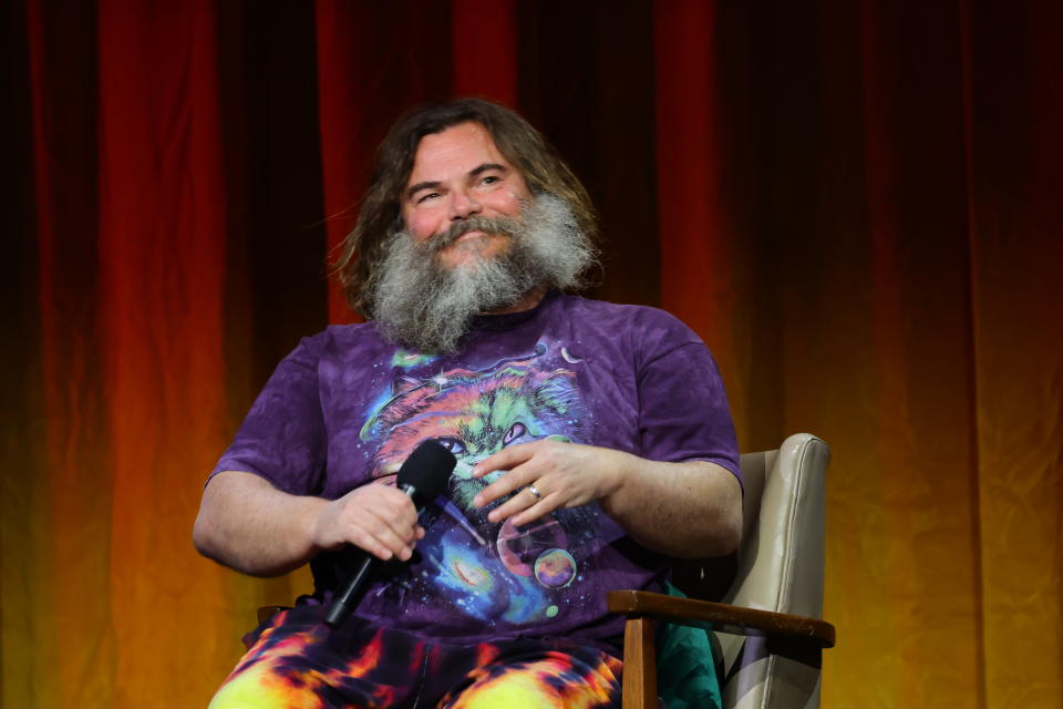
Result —
[[[283,7],[281,7],[281,4]],[[595,294],[712,347],[828,480],[824,705],[1063,702],[1054,3],[9,3],[2,701],[204,706],[256,606],[206,473],[401,111],[485,95],[601,216]]]

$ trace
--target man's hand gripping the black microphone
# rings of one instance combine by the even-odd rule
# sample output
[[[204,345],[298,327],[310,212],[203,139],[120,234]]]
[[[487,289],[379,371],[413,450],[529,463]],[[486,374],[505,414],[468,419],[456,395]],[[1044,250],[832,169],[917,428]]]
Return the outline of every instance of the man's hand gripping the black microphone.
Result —
[[[383,483],[355,487],[329,502],[310,525],[311,543],[319,549],[353,544],[383,561],[407,561],[422,538],[413,500]]]

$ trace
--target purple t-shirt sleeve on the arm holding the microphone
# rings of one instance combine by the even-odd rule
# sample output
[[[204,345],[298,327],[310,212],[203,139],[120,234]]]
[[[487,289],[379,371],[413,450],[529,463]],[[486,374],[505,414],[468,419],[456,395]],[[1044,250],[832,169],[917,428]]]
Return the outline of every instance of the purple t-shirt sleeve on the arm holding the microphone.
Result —
[[[281,360],[210,477],[242,471],[293,495],[320,493],[327,456],[318,387],[321,339],[305,338]]]

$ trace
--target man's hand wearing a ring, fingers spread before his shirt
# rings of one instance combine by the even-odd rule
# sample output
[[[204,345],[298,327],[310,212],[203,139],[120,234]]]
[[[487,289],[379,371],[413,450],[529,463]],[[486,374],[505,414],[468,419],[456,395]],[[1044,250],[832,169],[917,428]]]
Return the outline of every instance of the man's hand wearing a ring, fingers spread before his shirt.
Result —
[[[561,441],[514,445],[473,469],[477,479],[508,471],[479,491],[473,504],[483,507],[516,492],[487,518],[504,522],[512,517],[518,526],[528,524],[560,507],[577,507],[612,494],[622,484],[630,458],[621,451]]]

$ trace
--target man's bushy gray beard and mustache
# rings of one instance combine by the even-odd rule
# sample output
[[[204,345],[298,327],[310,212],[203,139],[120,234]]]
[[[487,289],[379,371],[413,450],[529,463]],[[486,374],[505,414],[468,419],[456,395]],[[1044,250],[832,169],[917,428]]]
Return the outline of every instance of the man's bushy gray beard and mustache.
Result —
[[[494,258],[476,255],[454,268],[441,265],[440,251],[473,230],[507,234],[510,245]],[[370,284],[373,312],[393,342],[454,353],[476,316],[514,306],[538,287],[579,287],[595,263],[595,246],[568,204],[540,194],[522,205],[518,217],[471,217],[421,244],[396,233]]]

